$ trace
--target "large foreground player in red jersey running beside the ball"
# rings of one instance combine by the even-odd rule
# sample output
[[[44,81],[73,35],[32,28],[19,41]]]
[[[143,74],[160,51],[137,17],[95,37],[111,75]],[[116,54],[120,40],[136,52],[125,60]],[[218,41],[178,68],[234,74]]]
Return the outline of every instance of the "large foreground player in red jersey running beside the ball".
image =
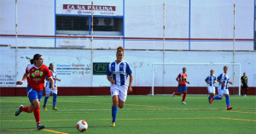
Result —
[[[27,88],[26,94],[31,102],[30,106],[24,107],[22,104],[20,108],[15,112],[15,116],[18,116],[20,112],[34,113],[35,119],[37,121],[38,130],[44,129],[40,123],[40,99],[43,96],[44,80],[45,77],[49,77],[49,81],[54,87],[54,81],[51,78],[51,73],[46,65],[44,65],[44,58],[40,54],[35,54],[34,64],[30,64],[26,67],[26,73],[23,75],[22,81],[17,81],[16,85],[22,85],[23,81],[26,81],[27,77]]]

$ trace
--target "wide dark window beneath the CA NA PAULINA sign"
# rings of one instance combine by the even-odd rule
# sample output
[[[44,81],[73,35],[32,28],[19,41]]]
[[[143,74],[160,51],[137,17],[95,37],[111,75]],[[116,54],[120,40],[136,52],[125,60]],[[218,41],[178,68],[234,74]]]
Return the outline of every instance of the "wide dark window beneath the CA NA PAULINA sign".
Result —
[[[89,16],[56,16],[56,34],[90,35]],[[93,35],[122,36],[123,18],[94,17]]]

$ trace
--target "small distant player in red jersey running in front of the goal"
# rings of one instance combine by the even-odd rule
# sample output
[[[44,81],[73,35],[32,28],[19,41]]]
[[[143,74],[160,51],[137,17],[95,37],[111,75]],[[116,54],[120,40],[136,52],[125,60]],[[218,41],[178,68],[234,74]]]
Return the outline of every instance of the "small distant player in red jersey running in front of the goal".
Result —
[[[187,95],[187,87],[186,87],[186,83],[189,84],[189,81],[187,81],[187,74],[186,74],[186,68],[183,68],[183,72],[181,72],[180,74],[177,75],[176,81],[178,82],[178,86],[177,86],[177,92],[173,92],[172,93],[172,98],[175,95],[180,96],[183,93],[183,100],[182,100],[182,104],[186,104],[185,98]]]

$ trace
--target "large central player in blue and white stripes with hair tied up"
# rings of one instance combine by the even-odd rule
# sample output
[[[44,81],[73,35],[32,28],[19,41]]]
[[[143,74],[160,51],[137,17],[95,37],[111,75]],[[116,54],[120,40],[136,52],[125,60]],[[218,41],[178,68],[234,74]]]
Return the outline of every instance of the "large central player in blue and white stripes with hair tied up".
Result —
[[[118,47],[116,52],[116,60],[110,63],[106,72],[107,79],[110,81],[110,92],[113,100],[112,106],[112,123],[111,126],[115,126],[117,109],[122,109],[125,105],[125,99],[128,92],[132,92],[132,72],[129,64],[123,60],[124,48]],[[130,82],[127,80],[130,76]]]

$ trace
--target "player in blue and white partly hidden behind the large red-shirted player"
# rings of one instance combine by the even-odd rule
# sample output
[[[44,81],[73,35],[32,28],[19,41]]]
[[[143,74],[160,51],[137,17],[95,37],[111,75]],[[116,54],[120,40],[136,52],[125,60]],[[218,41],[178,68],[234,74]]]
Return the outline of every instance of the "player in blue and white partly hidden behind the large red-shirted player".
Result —
[[[44,106],[43,106],[44,110],[47,110],[46,109],[46,103],[47,103],[47,100],[49,98],[50,93],[52,93],[52,95],[53,95],[53,100],[52,100],[53,101],[53,105],[52,105],[53,107],[52,107],[52,109],[58,110],[55,106],[56,102],[57,102],[57,92],[58,92],[57,85],[56,85],[56,80],[61,81],[61,79],[57,78],[56,71],[54,70],[54,68],[55,68],[55,65],[53,63],[49,64],[49,71],[51,72],[52,78],[55,81],[55,90],[51,90],[51,85],[49,83],[48,78],[46,77],[47,82],[46,82],[46,85],[45,85],[45,97],[44,97]]]

